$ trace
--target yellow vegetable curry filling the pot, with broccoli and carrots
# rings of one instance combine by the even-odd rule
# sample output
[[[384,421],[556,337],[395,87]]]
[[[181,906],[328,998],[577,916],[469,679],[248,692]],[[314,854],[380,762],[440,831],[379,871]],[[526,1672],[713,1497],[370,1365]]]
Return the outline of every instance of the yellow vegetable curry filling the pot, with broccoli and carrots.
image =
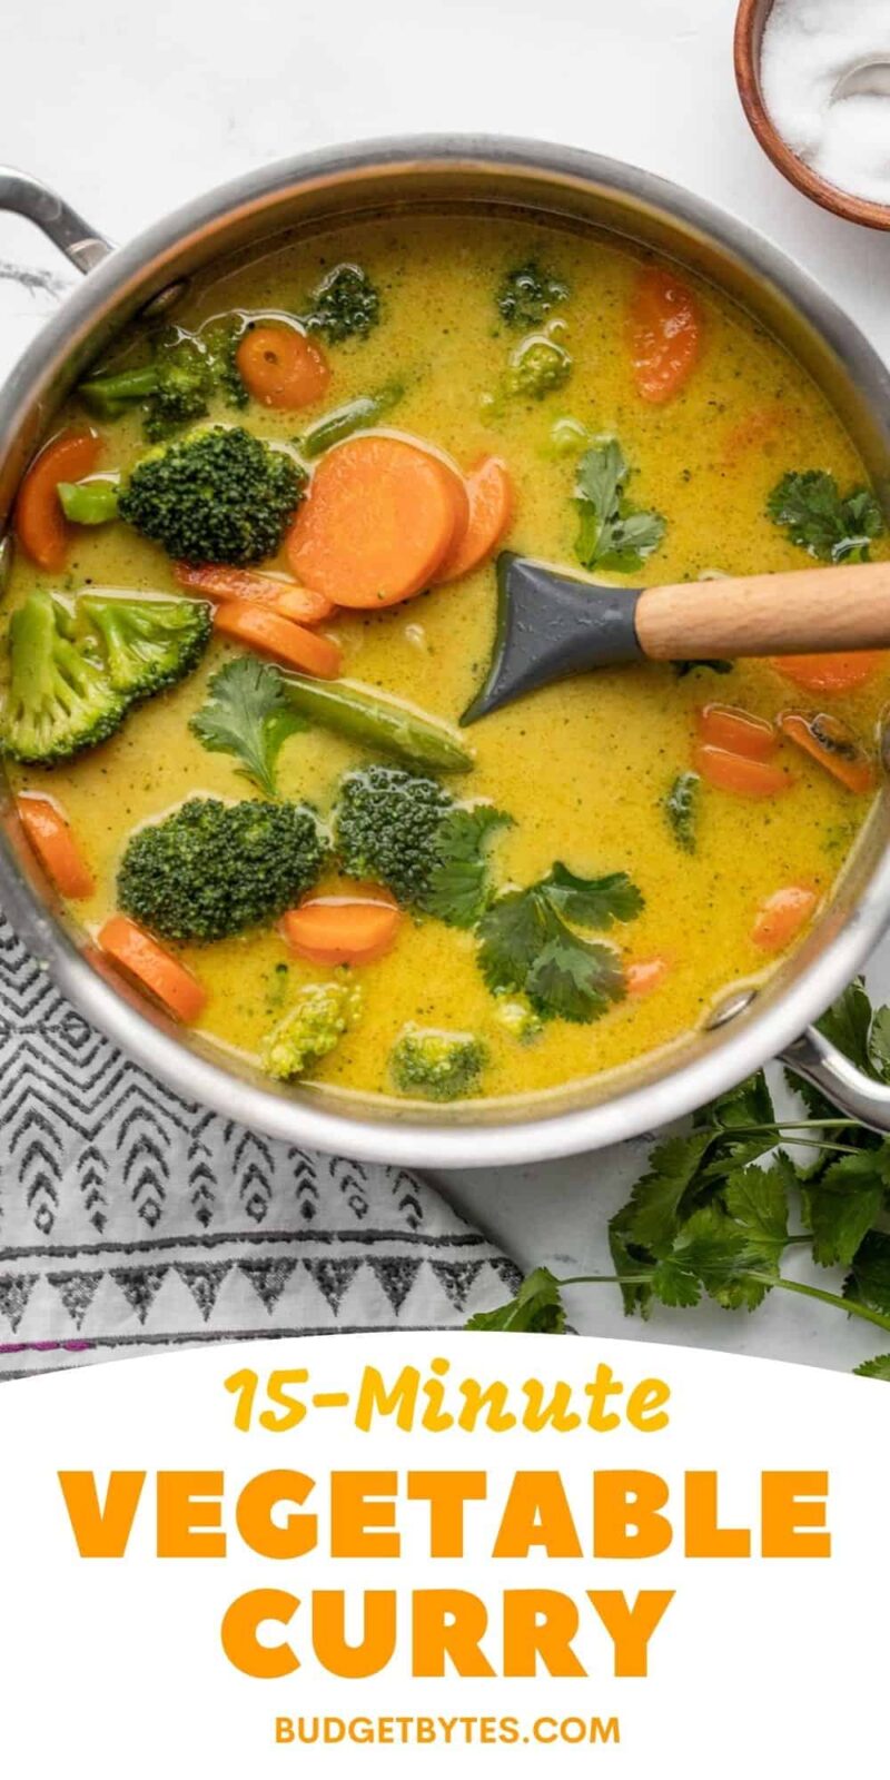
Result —
[[[716,600],[885,554],[840,422],[719,292],[609,237],[363,222],[196,281],[59,431],[4,751],[77,920],[174,1018],[285,1080],[530,1095],[805,936],[878,790],[885,657],[641,664],[459,726],[502,545]]]

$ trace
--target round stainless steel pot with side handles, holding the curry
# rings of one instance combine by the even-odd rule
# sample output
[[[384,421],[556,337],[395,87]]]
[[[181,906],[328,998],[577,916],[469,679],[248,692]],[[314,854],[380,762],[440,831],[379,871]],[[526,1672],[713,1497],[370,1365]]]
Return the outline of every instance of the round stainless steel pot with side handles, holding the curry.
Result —
[[[117,329],[221,255],[283,231],[406,210],[457,208],[605,228],[712,278],[780,336],[826,390],[890,511],[890,377],[865,338],[796,265],[740,222],[648,173],[568,148],[491,137],[406,139],[278,162],[185,205],[112,251],[36,180],[0,173],[0,208],[30,217],[85,272],[0,395],[0,516],[59,402]],[[59,908],[2,792],[0,901],[77,1007],[148,1070],[292,1143],[429,1168],[534,1162],[632,1137],[692,1111],[780,1054],[844,1111],[890,1130],[890,1089],[853,1068],[812,1024],[890,920],[885,792],[838,894],[806,943],[760,991],[735,993],[707,1027],[603,1082],[532,1100],[429,1114],[388,1102],[279,1089],[178,1031],[107,963]],[[101,963],[101,968],[100,968]]]

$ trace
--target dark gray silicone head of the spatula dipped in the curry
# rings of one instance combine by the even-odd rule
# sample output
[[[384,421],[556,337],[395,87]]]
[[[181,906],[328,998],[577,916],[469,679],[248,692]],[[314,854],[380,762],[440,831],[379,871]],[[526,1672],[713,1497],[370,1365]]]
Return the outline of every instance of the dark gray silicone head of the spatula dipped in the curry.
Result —
[[[477,723],[523,692],[566,675],[643,659],[634,627],[639,587],[578,580],[511,550],[498,555],[497,577],[491,666],[461,724]]]

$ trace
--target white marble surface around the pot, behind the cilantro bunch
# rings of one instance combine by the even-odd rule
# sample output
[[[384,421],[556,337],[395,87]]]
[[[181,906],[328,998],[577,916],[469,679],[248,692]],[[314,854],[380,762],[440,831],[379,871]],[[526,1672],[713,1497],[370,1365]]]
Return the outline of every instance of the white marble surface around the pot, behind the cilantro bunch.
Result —
[[[21,0],[4,20],[0,158],[125,240],[263,160],[409,130],[502,130],[651,167],[771,235],[890,356],[890,237],[815,210],[762,157],[732,75],[735,0]],[[21,276],[27,272],[28,276]],[[0,217],[0,368],[73,281]],[[870,970],[890,993],[890,949]],[[644,1146],[449,1184],[527,1264],[605,1271],[605,1219]],[[824,1276],[822,1276],[824,1278]],[[575,1294],[586,1331],[851,1365],[881,1337],[805,1299],[625,1324],[611,1287]],[[886,1346],[886,1342],[885,1342]]]

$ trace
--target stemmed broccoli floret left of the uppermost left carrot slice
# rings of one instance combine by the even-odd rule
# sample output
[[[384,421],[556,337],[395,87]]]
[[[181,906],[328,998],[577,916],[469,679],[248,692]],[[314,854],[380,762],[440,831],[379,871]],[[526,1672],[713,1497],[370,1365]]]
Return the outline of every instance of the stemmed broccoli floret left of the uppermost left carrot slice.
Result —
[[[244,333],[242,315],[219,317],[199,335],[183,328],[162,328],[153,340],[148,365],[89,377],[80,397],[105,420],[116,420],[128,408],[142,408],[142,431],[155,443],[180,427],[203,420],[214,395],[230,408],[244,408],[247,390],[235,363]]]

